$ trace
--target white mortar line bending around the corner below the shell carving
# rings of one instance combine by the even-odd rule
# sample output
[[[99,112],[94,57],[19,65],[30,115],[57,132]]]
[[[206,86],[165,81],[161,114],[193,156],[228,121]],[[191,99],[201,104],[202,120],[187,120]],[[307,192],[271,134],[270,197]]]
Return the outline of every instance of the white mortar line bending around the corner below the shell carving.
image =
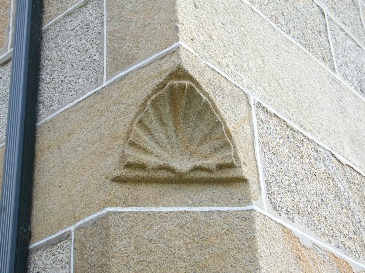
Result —
[[[272,219],[273,221],[287,227],[288,229],[293,230],[296,233],[299,233],[300,235],[306,237],[307,239],[311,240],[312,242],[314,242],[315,244],[326,248],[327,250],[332,251],[333,253],[336,253],[338,256],[341,256],[342,258],[344,258],[347,261],[353,262],[356,265],[362,266],[363,268],[365,268],[364,264],[361,264],[360,262],[357,262],[355,260],[353,260],[353,258],[351,258],[350,256],[347,256],[346,254],[343,254],[342,252],[340,252],[339,250],[337,250],[336,248],[323,243],[315,238],[313,238],[312,236],[302,232],[301,230],[297,229],[296,227],[290,225],[289,223],[284,222],[283,220],[271,215],[270,213],[268,213],[267,211],[264,211],[260,208],[258,208],[257,206],[254,205],[248,205],[245,207],[107,207],[101,211],[98,211],[97,213],[94,213],[84,219],[82,219],[81,221],[77,222],[76,224],[67,227],[66,229],[63,229],[57,233],[55,233],[52,236],[49,236],[43,240],[40,240],[38,242],[35,242],[34,244],[31,244],[29,246],[29,249],[35,248],[36,246],[45,244],[47,241],[52,240],[53,238],[59,237],[62,234],[65,233],[72,233],[74,232],[74,230],[78,227],[82,227],[83,224],[85,223],[93,223],[92,220],[96,220],[99,219],[100,216],[104,216],[105,214],[107,214],[108,212],[158,212],[158,211],[162,211],[162,212],[167,212],[167,211],[245,211],[245,210],[255,210],[258,213],[261,213],[265,216],[268,216],[270,219]]]

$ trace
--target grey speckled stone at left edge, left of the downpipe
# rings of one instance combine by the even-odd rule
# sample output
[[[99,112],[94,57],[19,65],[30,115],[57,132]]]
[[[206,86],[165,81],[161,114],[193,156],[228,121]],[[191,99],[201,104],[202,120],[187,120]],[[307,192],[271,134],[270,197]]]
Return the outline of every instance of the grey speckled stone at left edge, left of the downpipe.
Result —
[[[8,118],[11,60],[0,65],[0,143],[5,139]]]

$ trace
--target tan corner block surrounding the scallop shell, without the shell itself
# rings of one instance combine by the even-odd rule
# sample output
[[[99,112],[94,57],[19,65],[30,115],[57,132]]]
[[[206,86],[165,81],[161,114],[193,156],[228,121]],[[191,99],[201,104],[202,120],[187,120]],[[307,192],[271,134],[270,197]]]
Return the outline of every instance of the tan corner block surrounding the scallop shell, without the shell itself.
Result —
[[[187,55],[191,59],[181,64],[179,51],[103,88],[38,127],[32,241],[108,206],[245,206],[257,200],[251,107],[245,93],[191,54]],[[174,175],[172,181],[113,181],[123,167],[124,145],[135,119],[151,96],[172,80],[192,82],[210,100],[237,150],[237,160],[244,162],[241,172],[246,181],[174,182]]]

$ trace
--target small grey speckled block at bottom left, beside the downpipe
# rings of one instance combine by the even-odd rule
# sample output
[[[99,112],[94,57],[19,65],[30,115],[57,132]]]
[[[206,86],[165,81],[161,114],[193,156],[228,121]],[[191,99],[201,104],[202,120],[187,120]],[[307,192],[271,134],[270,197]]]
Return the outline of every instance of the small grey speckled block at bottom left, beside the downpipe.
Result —
[[[45,250],[30,252],[27,272],[70,272],[70,261],[71,238],[69,237]]]

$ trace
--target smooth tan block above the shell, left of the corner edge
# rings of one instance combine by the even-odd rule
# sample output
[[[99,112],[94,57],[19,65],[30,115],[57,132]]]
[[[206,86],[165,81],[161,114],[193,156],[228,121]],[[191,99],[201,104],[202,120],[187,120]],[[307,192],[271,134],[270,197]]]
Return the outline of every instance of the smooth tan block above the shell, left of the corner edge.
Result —
[[[108,0],[107,76],[178,41],[173,0]]]

